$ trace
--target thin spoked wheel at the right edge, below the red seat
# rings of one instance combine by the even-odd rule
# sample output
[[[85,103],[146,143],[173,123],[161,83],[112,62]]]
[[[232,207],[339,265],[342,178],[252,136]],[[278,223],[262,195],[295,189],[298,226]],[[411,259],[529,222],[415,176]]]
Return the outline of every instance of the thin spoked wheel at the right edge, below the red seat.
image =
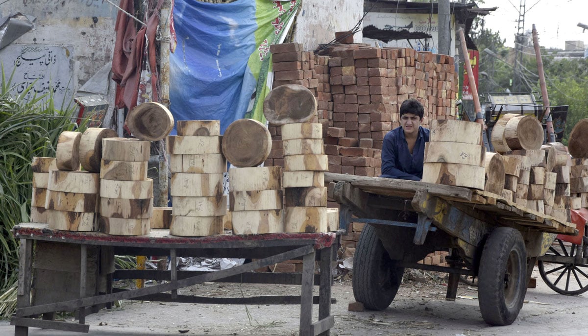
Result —
[[[565,244],[555,240],[558,246],[551,246],[545,256],[556,257],[561,261],[542,261],[537,264],[541,278],[552,290],[564,295],[580,295],[588,291],[588,264],[577,264],[576,253],[588,257],[582,246]]]

